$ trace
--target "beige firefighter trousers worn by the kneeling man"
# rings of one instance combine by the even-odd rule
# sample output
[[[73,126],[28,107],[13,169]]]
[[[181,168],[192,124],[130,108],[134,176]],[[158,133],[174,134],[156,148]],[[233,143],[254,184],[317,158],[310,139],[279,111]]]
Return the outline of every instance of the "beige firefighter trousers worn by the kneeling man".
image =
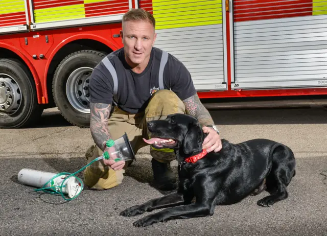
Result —
[[[143,140],[143,138],[150,137],[147,122],[164,120],[167,115],[174,113],[185,113],[183,102],[171,90],[158,90],[152,95],[148,106],[142,113],[129,114],[115,107],[108,121],[108,129],[113,140],[120,138],[126,132],[136,155],[139,149],[148,146]],[[92,145],[87,149],[85,156],[90,163],[102,154],[98,146]],[[155,150],[150,146],[150,154],[154,159],[166,163],[176,158],[172,149]],[[126,162],[122,170],[114,171],[106,166],[103,160],[95,161],[83,172],[84,184],[95,190],[117,186],[122,183],[128,164],[129,162]]]

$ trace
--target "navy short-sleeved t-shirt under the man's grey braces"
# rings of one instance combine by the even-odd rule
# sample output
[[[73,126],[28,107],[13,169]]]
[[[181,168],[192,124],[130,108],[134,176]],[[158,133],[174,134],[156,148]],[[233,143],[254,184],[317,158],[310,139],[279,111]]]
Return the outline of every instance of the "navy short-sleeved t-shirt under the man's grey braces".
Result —
[[[107,56],[118,77],[115,102],[122,110],[132,114],[145,110],[152,94],[159,89],[161,54],[161,50],[153,47],[149,64],[141,74],[133,72],[127,64],[124,48]],[[171,54],[164,69],[164,88],[171,89],[181,100],[196,94],[189,70]],[[103,62],[100,62],[92,72],[89,93],[91,103],[112,104],[113,102],[113,79]]]

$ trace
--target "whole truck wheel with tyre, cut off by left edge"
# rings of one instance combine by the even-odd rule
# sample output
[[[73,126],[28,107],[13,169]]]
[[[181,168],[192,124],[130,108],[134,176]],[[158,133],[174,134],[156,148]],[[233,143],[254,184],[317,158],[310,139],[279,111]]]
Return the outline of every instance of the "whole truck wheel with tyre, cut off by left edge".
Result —
[[[41,116],[32,75],[21,62],[0,59],[0,128],[29,126]]]

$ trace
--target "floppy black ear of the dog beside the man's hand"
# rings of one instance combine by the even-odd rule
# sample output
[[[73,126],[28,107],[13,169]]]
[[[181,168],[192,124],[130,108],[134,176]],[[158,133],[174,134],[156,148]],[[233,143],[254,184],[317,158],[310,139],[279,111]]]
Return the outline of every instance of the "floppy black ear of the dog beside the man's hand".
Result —
[[[199,125],[191,125],[188,132],[186,133],[182,150],[186,155],[192,154],[202,149],[203,137],[202,130]]]

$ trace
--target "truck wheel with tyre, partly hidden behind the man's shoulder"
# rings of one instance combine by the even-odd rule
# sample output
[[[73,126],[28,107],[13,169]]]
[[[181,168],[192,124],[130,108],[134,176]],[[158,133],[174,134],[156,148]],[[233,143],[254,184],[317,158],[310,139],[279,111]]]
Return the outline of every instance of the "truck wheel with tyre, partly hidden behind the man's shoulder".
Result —
[[[89,77],[105,56],[98,51],[78,51],[66,56],[56,69],[53,97],[62,116],[75,126],[89,127]]]

